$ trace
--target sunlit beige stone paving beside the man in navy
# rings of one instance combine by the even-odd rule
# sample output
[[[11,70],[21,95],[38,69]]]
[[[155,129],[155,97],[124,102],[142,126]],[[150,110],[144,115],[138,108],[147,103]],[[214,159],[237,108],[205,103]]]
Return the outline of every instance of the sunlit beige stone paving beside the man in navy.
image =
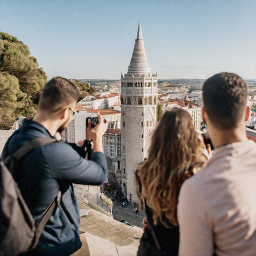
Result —
[[[142,229],[91,209],[78,198],[82,247],[72,256],[135,256]]]

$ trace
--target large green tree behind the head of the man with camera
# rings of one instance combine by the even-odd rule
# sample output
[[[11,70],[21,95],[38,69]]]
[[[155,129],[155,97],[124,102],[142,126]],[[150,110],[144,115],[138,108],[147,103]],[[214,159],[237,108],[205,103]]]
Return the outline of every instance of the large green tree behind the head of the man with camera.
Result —
[[[16,37],[0,32],[0,50],[0,128],[8,129],[19,115],[34,115],[47,76]]]

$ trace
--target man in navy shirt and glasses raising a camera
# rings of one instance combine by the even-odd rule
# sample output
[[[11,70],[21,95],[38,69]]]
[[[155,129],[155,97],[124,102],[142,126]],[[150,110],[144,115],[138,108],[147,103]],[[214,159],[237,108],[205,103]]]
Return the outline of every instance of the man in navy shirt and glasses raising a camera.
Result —
[[[32,120],[25,119],[22,126],[7,140],[2,159],[36,137],[54,137],[66,128],[76,113],[78,87],[71,81],[54,77],[45,84]],[[13,176],[21,194],[37,220],[49,203],[61,191],[60,204],[53,211],[35,249],[28,255],[70,255],[80,248],[79,207],[72,183],[99,185],[107,175],[102,148],[102,135],[107,123],[98,114],[99,122],[91,128],[88,123],[86,137],[93,140],[91,160],[86,160],[68,143],[53,142],[39,146],[25,155]],[[88,138],[87,137],[87,138]]]

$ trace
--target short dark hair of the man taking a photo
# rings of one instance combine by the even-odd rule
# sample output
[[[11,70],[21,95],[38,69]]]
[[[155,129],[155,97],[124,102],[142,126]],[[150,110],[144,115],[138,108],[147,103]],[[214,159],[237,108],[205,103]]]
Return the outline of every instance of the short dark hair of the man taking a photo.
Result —
[[[45,84],[38,106],[42,110],[55,112],[77,101],[78,97],[79,88],[70,80],[57,76]]]

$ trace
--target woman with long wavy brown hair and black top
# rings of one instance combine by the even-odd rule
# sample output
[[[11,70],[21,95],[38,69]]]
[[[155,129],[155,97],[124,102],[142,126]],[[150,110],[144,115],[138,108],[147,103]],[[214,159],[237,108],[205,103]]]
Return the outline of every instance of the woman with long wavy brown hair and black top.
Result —
[[[148,158],[136,170],[140,207],[147,215],[137,255],[178,254],[178,193],[207,159],[190,114],[181,108],[166,111],[153,132]]]

